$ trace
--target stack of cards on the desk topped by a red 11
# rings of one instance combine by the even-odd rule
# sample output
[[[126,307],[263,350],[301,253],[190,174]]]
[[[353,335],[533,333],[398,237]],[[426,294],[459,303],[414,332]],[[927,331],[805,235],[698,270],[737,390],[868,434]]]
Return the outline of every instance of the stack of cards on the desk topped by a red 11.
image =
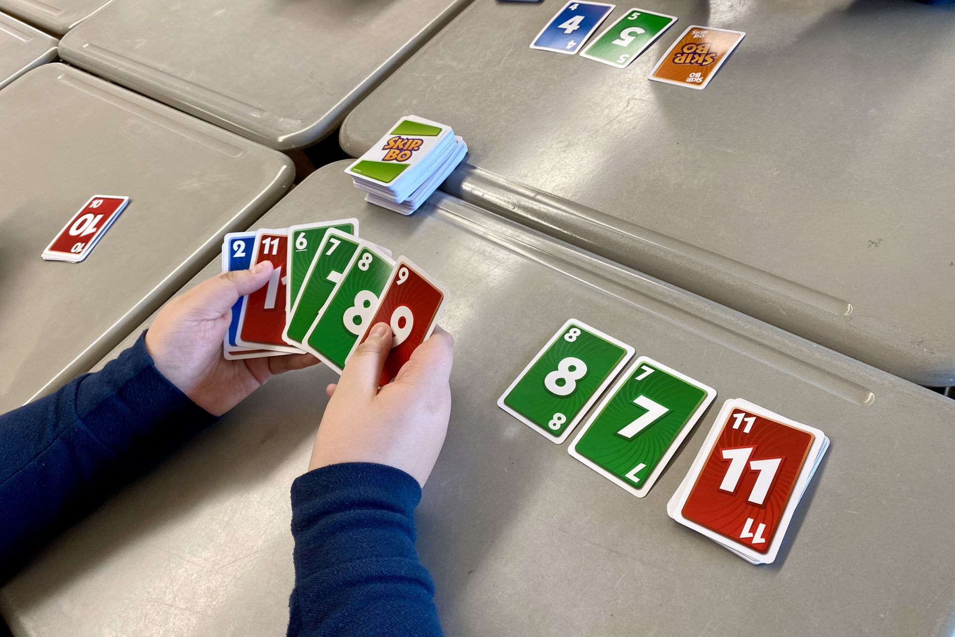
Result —
[[[815,427],[727,400],[669,500],[669,517],[749,563],[772,563],[828,447]]]

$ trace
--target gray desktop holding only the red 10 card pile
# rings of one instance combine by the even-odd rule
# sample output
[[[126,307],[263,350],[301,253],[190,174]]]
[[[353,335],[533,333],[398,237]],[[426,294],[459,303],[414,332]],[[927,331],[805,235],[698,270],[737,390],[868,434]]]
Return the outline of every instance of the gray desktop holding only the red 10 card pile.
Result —
[[[0,413],[89,370],[284,194],[281,153],[63,64],[0,91]],[[40,253],[93,195],[130,198],[86,261]]]

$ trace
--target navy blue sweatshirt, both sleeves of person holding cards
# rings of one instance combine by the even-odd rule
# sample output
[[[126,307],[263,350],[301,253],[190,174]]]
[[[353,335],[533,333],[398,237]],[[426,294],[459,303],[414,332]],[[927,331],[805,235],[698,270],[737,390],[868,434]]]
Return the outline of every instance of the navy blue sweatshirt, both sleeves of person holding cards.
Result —
[[[143,337],[102,372],[0,415],[0,581],[43,542],[216,418],[159,373]],[[292,483],[288,635],[440,635],[414,549],[421,489],[380,464]]]

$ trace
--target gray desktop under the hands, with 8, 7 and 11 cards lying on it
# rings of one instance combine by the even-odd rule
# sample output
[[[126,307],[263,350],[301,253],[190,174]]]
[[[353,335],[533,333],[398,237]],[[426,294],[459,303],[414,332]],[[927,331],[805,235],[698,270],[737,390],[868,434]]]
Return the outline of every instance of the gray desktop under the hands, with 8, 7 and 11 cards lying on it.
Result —
[[[448,635],[951,634],[955,401],[448,195],[412,217],[376,208],[345,165],[319,170],[256,225],[357,217],[364,237],[450,290],[454,407],[417,513]],[[570,317],[719,393],[645,499],[496,405]],[[3,589],[14,634],[282,634],[289,485],[334,378],[317,367],[269,381],[54,542]],[[832,439],[771,566],[666,512],[731,397]]]

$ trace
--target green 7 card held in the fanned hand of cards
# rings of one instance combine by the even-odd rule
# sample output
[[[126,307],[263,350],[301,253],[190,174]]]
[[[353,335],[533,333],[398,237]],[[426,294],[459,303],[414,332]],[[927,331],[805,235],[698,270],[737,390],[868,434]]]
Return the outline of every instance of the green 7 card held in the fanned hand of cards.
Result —
[[[308,329],[325,307],[331,292],[342,280],[342,275],[358,251],[361,240],[354,235],[331,228],[318,244],[315,256],[308,267],[301,293],[295,299],[290,312],[286,313],[286,330],[282,340],[288,345],[301,347]]]

